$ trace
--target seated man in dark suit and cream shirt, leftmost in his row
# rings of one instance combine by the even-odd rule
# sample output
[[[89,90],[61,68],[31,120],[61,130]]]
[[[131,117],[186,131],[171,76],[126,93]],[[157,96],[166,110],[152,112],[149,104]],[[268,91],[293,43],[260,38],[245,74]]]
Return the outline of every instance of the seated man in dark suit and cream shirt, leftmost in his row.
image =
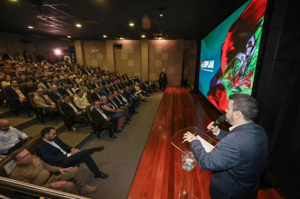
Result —
[[[16,100],[17,105],[23,104],[24,108],[26,109],[28,117],[29,118],[33,117],[31,113],[31,106],[29,103],[27,93],[22,89],[22,87],[19,87],[17,81],[15,80],[11,81],[10,88],[5,90],[5,94],[8,99]]]

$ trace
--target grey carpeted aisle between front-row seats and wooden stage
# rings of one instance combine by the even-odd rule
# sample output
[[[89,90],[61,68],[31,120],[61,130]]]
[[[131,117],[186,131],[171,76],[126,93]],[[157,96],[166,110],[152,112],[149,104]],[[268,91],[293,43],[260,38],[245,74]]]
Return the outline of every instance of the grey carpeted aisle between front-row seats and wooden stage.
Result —
[[[133,116],[130,124],[123,126],[123,132],[115,133],[117,139],[111,139],[108,133],[104,133],[102,139],[95,139],[94,136],[80,148],[84,150],[103,145],[104,150],[94,153],[91,157],[102,172],[109,174],[107,179],[95,179],[86,164],[81,164],[80,169],[88,185],[98,188],[95,193],[87,194],[86,197],[97,199],[127,197],[162,96],[163,92],[159,92],[148,97],[148,102],[136,109],[139,113]]]

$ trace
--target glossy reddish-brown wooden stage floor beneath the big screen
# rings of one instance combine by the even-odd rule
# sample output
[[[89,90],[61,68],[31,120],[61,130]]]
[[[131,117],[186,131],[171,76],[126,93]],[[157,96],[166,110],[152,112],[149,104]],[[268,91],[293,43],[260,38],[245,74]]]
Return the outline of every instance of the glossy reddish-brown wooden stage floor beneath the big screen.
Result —
[[[167,87],[146,143],[128,199],[178,198],[181,180],[181,152],[171,144],[172,136],[186,127],[205,130],[219,115],[203,102],[202,96],[191,95],[188,88]],[[145,115],[146,116],[146,115]],[[161,129],[159,130],[159,127]],[[223,123],[223,129],[229,124]],[[142,132],[141,132],[142,133]],[[209,199],[210,172],[195,170],[199,183],[198,199]],[[259,190],[259,199],[282,198],[274,189]]]

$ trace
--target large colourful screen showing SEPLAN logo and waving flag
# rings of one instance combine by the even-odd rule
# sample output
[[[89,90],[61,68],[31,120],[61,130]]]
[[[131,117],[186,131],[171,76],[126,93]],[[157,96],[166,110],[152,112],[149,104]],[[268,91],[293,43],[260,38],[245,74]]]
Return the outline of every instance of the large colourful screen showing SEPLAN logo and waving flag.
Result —
[[[251,95],[267,0],[250,0],[201,41],[199,90],[220,111]]]

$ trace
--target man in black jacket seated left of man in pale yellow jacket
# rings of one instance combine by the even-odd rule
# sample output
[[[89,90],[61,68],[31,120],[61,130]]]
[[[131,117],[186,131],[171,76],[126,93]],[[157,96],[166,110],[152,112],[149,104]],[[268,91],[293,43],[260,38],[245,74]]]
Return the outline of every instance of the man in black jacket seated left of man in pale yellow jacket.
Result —
[[[91,128],[91,125],[86,121],[85,112],[82,113],[81,109],[76,106],[75,102],[70,101],[68,95],[64,95],[64,102],[61,104],[61,110],[66,115],[74,115],[73,121],[80,121],[82,124],[85,124],[87,128]]]

